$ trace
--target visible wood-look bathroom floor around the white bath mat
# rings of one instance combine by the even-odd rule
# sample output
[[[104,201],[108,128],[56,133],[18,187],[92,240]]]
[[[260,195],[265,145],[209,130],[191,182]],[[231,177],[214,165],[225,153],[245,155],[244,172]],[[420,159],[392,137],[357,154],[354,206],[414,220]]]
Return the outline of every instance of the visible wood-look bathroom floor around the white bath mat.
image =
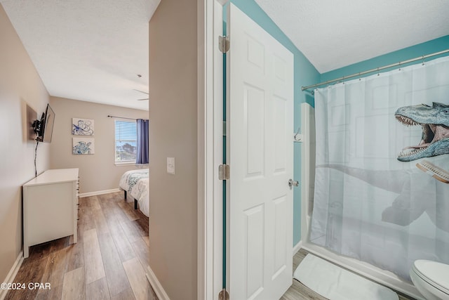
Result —
[[[293,256],[293,272],[295,272],[297,266],[300,265],[302,259],[308,254],[304,249],[300,249],[295,256]],[[409,298],[405,295],[399,294],[399,300],[415,300],[413,298]],[[287,290],[286,294],[283,294],[280,300],[327,300],[320,294],[312,291],[301,282],[295,280],[293,278],[293,285]]]

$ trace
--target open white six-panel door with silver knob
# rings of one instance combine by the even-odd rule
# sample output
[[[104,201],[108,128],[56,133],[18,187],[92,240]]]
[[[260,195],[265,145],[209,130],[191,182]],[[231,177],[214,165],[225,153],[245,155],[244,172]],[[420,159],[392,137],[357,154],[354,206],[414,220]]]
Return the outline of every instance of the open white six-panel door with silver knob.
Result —
[[[233,4],[227,33],[230,299],[279,299],[293,249],[293,54]]]

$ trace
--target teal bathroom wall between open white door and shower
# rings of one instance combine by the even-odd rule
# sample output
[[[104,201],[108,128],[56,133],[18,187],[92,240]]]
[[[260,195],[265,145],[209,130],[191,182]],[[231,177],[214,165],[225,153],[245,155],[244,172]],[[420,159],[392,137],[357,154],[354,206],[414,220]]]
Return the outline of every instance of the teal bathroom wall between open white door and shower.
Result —
[[[231,0],[241,11],[246,13],[251,19],[259,24],[265,31],[277,39],[283,46],[293,53],[295,59],[295,124],[294,130],[301,124],[300,105],[303,102],[313,103],[313,97],[309,92],[301,91],[301,86],[314,84],[320,80],[320,74],[315,67],[311,65],[309,60],[293,45],[285,34],[277,27],[269,16],[262,11],[254,0]],[[293,141],[293,131],[292,131]],[[294,177],[295,180],[301,181],[301,143],[294,143]],[[301,190],[294,188],[293,192],[293,245],[301,240]]]

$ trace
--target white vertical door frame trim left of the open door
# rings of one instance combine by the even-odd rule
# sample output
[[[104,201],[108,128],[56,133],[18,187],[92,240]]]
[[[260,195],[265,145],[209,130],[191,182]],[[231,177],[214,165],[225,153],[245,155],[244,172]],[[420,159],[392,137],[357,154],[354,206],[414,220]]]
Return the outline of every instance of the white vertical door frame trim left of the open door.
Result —
[[[198,249],[197,298],[217,299],[222,289],[222,6],[228,0],[197,0],[198,28]],[[215,30],[215,32],[214,32]]]

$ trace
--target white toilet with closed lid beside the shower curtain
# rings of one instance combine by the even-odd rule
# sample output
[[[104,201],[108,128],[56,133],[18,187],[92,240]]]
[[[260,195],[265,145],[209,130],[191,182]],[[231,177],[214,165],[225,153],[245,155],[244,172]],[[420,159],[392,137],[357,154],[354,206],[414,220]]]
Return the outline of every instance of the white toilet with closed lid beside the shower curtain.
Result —
[[[410,278],[427,300],[449,300],[449,265],[418,259],[410,269]]]

